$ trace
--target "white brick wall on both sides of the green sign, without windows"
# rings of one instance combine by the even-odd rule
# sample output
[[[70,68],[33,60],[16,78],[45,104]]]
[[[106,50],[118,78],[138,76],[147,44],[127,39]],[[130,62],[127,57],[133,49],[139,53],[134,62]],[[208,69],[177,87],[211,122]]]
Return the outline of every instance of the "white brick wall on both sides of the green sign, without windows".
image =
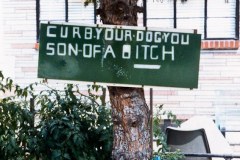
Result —
[[[22,86],[39,82],[36,1],[1,0],[0,20],[0,70]],[[55,82],[52,85],[61,86]],[[149,87],[144,88],[149,103]],[[154,104],[164,104],[166,110],[172,110],[180,118],[193,115],[214,118],[221,96],[231,98],[231,103],[222,102],[225,107],[240,105],[240,50],[202,51],[198,89],[153,87],[153,90]]]

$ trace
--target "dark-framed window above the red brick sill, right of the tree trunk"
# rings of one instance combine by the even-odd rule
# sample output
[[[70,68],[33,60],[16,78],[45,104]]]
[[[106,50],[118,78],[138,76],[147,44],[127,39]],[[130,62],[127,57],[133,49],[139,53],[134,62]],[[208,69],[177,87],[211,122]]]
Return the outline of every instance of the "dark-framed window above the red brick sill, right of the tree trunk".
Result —
[[[146,23],[197,29],[202,39],[238,39],[238,6],[238,0],[148,0]]]

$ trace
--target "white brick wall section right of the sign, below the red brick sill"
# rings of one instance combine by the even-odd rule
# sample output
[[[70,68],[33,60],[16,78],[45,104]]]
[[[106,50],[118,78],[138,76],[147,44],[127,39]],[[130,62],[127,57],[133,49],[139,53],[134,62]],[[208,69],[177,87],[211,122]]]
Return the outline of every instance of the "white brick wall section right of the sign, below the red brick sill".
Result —
[[[186,117],[215,116],[215,107],[223,103],[222,97],[233,97],[231,106],[240,106],[239,80],[240,51],[202,51],[198,89],[170,89],[171,92],[165,91],[166,95],[156,101],[166,102],[166,108]]]

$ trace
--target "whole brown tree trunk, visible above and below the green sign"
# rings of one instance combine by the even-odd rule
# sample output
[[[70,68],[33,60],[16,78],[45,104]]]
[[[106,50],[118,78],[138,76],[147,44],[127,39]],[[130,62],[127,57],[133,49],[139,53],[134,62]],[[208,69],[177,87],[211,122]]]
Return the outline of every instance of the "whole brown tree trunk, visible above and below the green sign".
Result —
[[[137,26],[137,0],[100,0],[103,24]],[[142,88],[108,87],[112,103],[113,160],[150,160],[149,109]]]

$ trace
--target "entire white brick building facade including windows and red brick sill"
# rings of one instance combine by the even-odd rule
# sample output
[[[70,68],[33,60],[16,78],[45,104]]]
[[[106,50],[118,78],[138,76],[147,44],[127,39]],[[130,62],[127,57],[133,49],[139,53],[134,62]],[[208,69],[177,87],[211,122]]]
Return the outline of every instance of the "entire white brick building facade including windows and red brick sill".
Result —
[[[139,14],[139,26],[191,28],[202,34],[198,89],[152,87],[154,104],[164,104],[181,119],[220,117],[221,125],[240,129],[239,1],[149,0],[143,17]],[[100,23],[94,18],[94,5],[85,7],[80,0],[1,0],[0,20],[0,70],[21,86],[41,80],[37,78],[39,23]],[[53,87],[61,83],[66,81],[49,81]],[[149,102],[149,87],[145,92]],[[227,114],[236,116],[231,124],[225,121]]]

